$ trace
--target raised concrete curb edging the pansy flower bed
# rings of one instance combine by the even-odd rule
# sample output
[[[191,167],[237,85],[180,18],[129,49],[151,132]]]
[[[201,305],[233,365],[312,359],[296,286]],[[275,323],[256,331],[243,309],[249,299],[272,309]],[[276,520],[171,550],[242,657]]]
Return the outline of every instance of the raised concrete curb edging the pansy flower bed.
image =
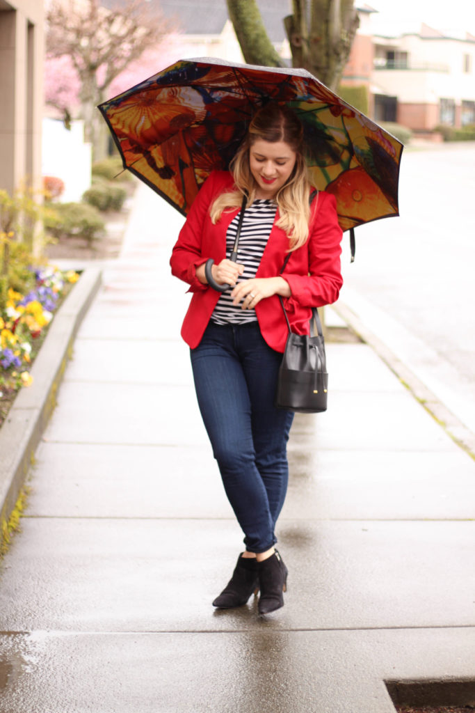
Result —
[[[58,392],[81,322],[102,283],[88,268],[55,314],[31,369],[33,384],[21,389],[0,429],[0,526],[14,511],[34,453],[56,406]],[[0,528],[1,540],[1,528]]]

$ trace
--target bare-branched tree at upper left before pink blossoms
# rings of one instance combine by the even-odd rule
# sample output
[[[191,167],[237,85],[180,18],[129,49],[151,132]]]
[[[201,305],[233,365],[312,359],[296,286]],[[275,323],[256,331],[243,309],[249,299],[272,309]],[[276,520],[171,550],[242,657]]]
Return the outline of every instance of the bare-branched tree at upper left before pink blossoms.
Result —
[[[77,73],[85,140],[95,159],[105,152],[105,123],[96,106],[110,83],[167,32],[163,17],[143,0],[107,9],[100,0],[51,0],[46,12],[49,57],[67,56]]]

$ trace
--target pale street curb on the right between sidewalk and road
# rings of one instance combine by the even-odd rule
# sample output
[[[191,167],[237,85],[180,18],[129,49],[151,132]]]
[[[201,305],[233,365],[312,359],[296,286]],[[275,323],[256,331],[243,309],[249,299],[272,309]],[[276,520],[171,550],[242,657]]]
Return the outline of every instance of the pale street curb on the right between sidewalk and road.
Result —
[[[424,406],[424,409],[432,416],[437,423],[453,441],[475,460],[475,434],[463,424],[447,406],[439,401],[437,396],[425,386],[425,384],[404,364],[389,347],[378,337],[365,327],[365,324],[357,317],[348,305],[338,301],[332,304],[332,309],[348,324],[348,327],[357,334],[362,342],[366,342],[376,352],[377,356],[385,362],[391,371],[397,376],[404,386],[409,389],[414,399]]]

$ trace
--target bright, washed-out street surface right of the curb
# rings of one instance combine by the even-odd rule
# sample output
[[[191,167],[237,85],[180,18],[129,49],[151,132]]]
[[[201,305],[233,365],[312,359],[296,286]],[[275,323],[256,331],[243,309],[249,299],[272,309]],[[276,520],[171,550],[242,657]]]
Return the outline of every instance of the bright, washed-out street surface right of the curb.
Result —
[[[475,431],[475,143],[404,151],[400,217],[343,238],[340,299]]]

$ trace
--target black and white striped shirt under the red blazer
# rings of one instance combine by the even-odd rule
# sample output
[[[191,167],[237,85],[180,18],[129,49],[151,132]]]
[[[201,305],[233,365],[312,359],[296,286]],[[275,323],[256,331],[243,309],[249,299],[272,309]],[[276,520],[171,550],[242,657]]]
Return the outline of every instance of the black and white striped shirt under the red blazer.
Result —
[[[257,268],[276,217],[276,210],[277,205],[272,200],[255,200],[244,211],[237,258],[237,262],[244,265],[244,275],[239,277],[238,282],[256,277]],[[231,221],[226,233],[227,256],[231,255],[234,247],[238,222],[239,213]],[[221,292],[211,318],[217,324],[229,324],[230,322],[231,324],[245,324],[246,322],[255,322],[257,319],[254,309],[241,309],[241,305],[234,307],[231,289]]]

